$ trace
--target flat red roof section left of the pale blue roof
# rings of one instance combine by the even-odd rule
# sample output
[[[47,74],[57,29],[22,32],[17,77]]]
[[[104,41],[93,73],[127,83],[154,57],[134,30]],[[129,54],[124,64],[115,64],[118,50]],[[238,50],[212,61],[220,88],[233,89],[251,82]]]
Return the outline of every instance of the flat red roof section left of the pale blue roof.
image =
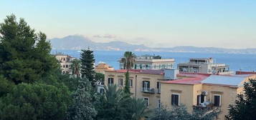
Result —
[[[201,81],[206,79],[210,74],[177,74],[177,76],[186,76],[186,79],[177,79],[173,81],[162,81],[166,84],[201,84]]]

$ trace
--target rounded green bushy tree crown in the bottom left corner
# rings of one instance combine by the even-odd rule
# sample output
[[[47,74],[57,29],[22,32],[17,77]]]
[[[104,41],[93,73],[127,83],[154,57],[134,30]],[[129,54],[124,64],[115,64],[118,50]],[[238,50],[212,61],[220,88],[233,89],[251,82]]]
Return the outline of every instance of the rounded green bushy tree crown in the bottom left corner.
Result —
[[[64,119],[70,104],[65,86],[19,84],[0,98],[0,119]]]

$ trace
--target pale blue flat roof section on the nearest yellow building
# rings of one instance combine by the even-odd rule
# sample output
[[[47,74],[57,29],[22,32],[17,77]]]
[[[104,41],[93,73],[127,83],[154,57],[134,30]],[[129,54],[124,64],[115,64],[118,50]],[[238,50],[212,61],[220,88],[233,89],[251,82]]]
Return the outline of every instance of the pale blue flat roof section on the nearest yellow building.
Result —
[[[250,74],[243,75],[211,75],[202,81],[202,84],[219,84],[226,86],[242,86],[242,81]]]

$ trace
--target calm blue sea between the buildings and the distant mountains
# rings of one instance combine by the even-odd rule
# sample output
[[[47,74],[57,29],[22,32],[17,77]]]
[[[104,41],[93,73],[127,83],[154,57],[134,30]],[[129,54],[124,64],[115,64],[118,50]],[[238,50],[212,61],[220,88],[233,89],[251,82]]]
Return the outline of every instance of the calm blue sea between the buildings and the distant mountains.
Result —
[[[80,51],[76,50],[52,50],[52,54],[62,52],[70,56],[80,57]],[[94,51],[95,63],[103,61],[115,69],[119,69],[118,60],[123,56],[124,51]],[[187,62],[189,58],[214,58],[217,63],[228,64],[232,71],[256,71],[256,54],[202,54],[202,53],[174,53],[155,51],[134,51],[136,55],[155,54],[165,59],[174,58],[177,63]]]

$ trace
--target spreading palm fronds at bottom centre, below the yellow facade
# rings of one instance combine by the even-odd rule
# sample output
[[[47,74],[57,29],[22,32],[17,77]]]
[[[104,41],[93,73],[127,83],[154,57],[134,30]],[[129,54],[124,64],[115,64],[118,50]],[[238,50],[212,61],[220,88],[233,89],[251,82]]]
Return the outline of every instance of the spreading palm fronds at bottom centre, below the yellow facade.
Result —
[[[105,87],[105,94],[97,104],[97,119],[141,119],[146,115],[146,106],[142,99],[131,98],[118,86]]]

